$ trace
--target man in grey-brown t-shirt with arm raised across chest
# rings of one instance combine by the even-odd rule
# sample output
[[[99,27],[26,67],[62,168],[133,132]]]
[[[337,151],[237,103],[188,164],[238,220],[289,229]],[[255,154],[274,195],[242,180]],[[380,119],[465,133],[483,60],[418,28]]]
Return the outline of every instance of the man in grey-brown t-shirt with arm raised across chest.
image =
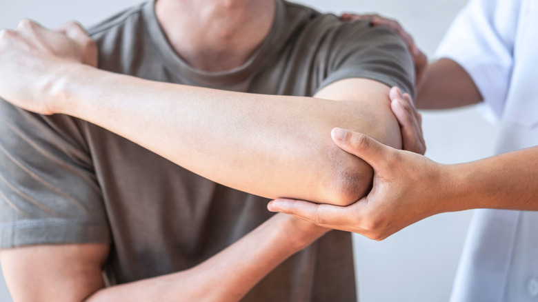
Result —
[[[72,40],[31,21],[3,31],[0,95],[182,168],[2,102],[0,256],[14,299],[356,299],[349,234],[279,265],[326,230],[271,217],[254,194],[348,204],[366,192],[370,168],[329,132],[399,147],[386,95],[413,89],[399,37],[270,0],[159,0],[90,30],[100,68],[173,85],[81,66],[97,61],[88,38],[63,32]],[[101,266],[118,285],[103,288]]]

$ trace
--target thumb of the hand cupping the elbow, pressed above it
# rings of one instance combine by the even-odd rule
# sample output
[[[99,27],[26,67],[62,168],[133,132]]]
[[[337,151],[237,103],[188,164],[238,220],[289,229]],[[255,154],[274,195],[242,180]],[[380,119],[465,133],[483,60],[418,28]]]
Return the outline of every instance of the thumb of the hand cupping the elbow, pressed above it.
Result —
[[[368,137],[366,134],[342,128],[332,129],[331,137],[339,148],[366,161],[374,170],[380,168],[383,159],[387,157],[387,153],[392,149]]]

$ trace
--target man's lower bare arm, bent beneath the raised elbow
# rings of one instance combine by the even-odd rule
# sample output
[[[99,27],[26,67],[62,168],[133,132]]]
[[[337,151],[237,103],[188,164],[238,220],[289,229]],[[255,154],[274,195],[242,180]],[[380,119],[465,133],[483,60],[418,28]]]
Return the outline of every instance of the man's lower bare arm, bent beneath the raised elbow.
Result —
[[[194,268],[104,288],[108,245],[0,251],[14,301],[239,301],[263,276],[326,230],[278,214]]]

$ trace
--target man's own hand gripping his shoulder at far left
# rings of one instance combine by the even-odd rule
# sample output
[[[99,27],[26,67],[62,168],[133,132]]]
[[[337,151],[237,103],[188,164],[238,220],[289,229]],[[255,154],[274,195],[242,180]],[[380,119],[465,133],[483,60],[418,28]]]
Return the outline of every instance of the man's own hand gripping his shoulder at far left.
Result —
[[[56,113],[55,84],[80,63],[97,66],[97,47],[78,23],[51,31],[23,20],[0,32],[0,97],[26,110]]]

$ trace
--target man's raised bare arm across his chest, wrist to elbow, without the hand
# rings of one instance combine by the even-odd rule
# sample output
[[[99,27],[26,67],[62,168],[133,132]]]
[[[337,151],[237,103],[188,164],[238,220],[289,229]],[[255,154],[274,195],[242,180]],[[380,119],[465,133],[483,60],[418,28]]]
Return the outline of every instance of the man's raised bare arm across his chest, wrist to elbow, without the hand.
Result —
[[[71,104],[64,103],[62,112],[212,181],[263,197],[337,204],[359,199],[372,171],[332,143],[333,127],[400,144],[388,88],[381,84],[359,103],[196,88],[92,68],[77,72],[78,80],[62,89]]]

